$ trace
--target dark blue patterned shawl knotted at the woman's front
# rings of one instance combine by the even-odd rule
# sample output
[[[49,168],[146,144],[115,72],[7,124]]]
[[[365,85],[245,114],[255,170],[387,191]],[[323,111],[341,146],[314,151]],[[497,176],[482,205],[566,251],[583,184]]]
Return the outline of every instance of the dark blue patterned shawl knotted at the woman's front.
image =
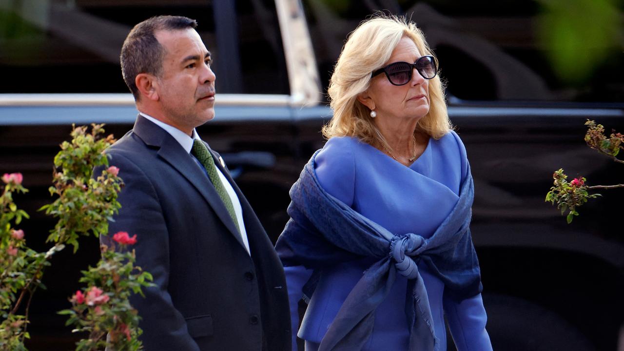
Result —
[[[290,190],[291,219],[276,244],[285,267],[304,265],[319,272],[339,262],[375,257],[348,295],[327,330],[319,351],[361,350],[373,331],[374,314],[386,298],[396,273],[409,279],[412,299],[406,300],[409,350],[439,350],[427,290],[416,262],[422,260],[457,299],[481,292],[479,262],[470,237],[474,187],[470,169],[461,184],[451,214],[425,239],[407,233],[394,235],[329,195],[314,171],[314,153]],[[314,288],[314,274],[305,289]],[[310,296],[310,291],[306,292]]]

